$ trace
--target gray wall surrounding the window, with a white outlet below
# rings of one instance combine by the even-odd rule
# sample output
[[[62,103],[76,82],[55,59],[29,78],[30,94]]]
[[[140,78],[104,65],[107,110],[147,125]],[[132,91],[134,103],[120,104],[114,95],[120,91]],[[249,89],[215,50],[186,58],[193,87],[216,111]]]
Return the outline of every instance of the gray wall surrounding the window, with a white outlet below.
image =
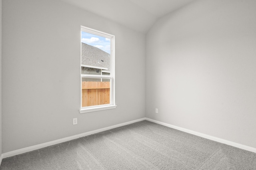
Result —
[[[59,0],[3,0],[2,22],[3,153],[145,117],[144,34]],[[81,25],[115,35],[116,109],[79,113]]]

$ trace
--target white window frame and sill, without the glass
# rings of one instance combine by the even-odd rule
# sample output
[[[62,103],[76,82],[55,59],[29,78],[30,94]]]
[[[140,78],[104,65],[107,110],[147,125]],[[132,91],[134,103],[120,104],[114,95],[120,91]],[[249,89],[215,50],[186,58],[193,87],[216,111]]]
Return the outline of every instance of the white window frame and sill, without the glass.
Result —
[[[89,74],[82,74],[81,73],[81,63],[80,63],[80,113],[88,113],[94,111],[102,111],[107,109],[115,109],[115,36],[104,33],[98,30],[94,30],[92,28],[88,28],[85,26],[81,26],[81,34],[82,32],[88,32],[90,34],[94,34],[97,36],[105,37],[110,39],[110,75],[89,75]],[[81,36],[80,36],[81,38]],[[81,43],[80,43],[81,44]],[[82,47],[81,47],[81,55],[82,55]],[[109,78],[110,79],[110,104],[107,105],[95,105],[95,106],[88,106],[82,107],[82,77],[85,78]]]

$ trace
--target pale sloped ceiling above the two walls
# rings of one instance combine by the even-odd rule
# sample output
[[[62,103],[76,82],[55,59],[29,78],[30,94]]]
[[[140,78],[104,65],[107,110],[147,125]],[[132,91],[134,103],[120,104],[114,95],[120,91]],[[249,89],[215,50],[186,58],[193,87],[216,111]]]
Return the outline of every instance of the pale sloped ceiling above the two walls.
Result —
[[[156,20],[194,0],[62,0],[142,33]]]

